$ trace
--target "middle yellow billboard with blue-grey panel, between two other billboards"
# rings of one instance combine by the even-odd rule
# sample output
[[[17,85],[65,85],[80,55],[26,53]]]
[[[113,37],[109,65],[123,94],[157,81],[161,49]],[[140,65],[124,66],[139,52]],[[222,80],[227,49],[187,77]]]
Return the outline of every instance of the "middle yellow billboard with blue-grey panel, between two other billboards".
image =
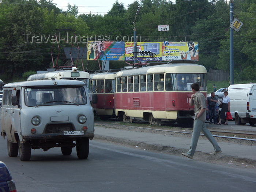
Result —
[[[133,56],[133,42],[125,42],[125,60],[130,59]],[[137,54],[137,59],[142,60],[162,60],[162,43],[161,42],[137,42],[137,50],[141,52]],[[154,58],[150,58],[151,54]]]

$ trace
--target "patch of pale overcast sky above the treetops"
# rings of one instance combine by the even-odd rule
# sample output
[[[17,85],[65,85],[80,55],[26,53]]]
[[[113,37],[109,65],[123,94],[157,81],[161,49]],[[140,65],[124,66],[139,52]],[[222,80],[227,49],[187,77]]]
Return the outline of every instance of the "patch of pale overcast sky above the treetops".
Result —
[[[123,3],[124,8],[127,9],[128,5],[133,3],[136,0],[118,0],[121,4]],[[76,5],[78,7],[78,15],[80,14],[107,14],[108,11],[113,7],[113,4],[116,3],[116,0],[53,0],[53,3],[57,4],[56,6],[63,11],[67,10],[68,3]],[[140,2],[140,0],[138,0]]]

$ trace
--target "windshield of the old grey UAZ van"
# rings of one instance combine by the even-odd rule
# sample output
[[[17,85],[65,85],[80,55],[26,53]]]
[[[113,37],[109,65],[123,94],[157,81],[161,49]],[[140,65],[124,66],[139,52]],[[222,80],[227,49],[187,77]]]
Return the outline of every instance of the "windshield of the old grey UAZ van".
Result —
[[[24,90],[27,106],[85,105],[86,92],[82,86],[72,87],[27,87]]]

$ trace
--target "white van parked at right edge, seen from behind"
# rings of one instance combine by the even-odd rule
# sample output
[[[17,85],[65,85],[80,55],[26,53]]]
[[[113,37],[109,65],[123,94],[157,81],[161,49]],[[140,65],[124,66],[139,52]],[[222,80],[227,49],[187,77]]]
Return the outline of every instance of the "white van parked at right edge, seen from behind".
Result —
[[[236,125],[256,124],[256,83],[233,84],[227,89]]]

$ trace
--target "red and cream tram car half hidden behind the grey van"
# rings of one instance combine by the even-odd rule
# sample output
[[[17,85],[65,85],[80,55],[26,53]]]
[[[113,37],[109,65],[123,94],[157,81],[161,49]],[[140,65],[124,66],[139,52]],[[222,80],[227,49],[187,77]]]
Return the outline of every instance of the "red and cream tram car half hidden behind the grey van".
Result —
[[[114,113],[114,76],[121,69],[110,69],[107,72],[90,74],[91,92],[97,94],[97,103],[93,109],[101,120],[116,117]]]

